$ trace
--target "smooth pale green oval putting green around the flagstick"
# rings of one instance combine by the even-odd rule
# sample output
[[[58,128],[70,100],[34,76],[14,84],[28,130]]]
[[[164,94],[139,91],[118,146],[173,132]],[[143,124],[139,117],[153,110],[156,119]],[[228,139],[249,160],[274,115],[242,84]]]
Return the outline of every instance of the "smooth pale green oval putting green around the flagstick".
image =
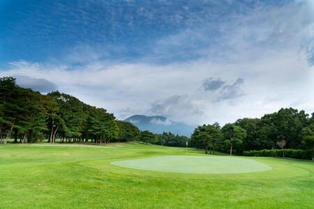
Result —
[[[174,173],[252,173],[269,171],[267,164],[241,157],[163,155],[112,162],[130,169]]]

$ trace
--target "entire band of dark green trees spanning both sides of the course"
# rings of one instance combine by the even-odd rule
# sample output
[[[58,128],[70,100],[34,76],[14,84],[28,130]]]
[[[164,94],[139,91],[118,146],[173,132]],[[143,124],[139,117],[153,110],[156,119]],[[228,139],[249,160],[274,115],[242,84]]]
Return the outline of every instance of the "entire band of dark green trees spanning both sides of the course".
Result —
[[[0,142],[106,144],[142,141],[161,146],[193,146],[206,153],[215,150],[241,155],[246,150],[276,148],[314,149],[314,114],[280,109],[262,118],[242,118],[220,127],[200,125],[190,139],[171,132],[140,131],[132,123],[118,121],[106,109],[92,107],[72,95],[54,91],[42,95],[15,84],[13,77],[0,78]]]

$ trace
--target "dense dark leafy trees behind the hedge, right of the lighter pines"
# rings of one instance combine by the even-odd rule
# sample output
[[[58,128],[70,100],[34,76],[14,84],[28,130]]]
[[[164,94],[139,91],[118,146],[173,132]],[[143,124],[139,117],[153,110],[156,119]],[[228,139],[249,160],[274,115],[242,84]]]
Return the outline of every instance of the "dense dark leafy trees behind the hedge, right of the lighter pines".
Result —
[[[297,109],[280,109],[273,114],[265,114],[262,118],[243,118],[237,120],[238,125],[246,130],[243,144],[238,146],[239,154],[244,150],[262,150],[278,148],[277,141],[287,141],[287,148],[306,148],[301,143],[304,137],[314,133],[313,115]]]

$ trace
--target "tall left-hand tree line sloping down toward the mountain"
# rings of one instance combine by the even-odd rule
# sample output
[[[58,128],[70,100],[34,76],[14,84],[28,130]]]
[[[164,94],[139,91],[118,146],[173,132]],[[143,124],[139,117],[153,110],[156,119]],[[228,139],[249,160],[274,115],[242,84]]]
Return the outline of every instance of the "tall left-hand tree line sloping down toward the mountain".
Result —
[[[13,77],[0,78],[0,143],[47,139],[55,143],[137,141],[140,130],[117,121],[106,109],[92,107],[77,98],[54,91],[47,95],[21,88]]]

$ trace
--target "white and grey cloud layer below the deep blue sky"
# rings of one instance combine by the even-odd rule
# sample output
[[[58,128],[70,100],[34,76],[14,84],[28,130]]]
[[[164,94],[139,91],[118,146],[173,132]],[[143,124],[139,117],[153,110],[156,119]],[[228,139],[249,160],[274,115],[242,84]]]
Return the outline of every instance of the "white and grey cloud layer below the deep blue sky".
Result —
[[[258,2],[215,26],[207,22],[215,15],[200,15],[136,60],[108,61],[107,51],[80,45],[60,62],[12,61],[0,76],[35,81],[38,89],[58,86],[121,119],[149,114],[223,124],[281,107],[314,111],[312,1]]]

